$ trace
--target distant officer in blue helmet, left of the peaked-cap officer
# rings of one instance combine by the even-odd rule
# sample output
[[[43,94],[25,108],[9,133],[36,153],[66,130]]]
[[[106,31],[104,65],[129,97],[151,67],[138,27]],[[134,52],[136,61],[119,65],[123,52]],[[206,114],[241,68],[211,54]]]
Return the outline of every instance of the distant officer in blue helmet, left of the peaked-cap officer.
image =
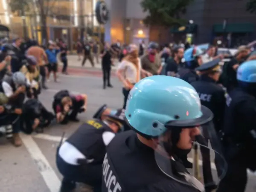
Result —
[[[195,71],[195,68],[202,64],[201,55],[203,51],[198,47],[192,47],[185,51],[184,59],[185,59],[185,68],[180,68],[178,74],[180,79],[188,83],[192,83],[194,81],[198,81],[199,76]]]

